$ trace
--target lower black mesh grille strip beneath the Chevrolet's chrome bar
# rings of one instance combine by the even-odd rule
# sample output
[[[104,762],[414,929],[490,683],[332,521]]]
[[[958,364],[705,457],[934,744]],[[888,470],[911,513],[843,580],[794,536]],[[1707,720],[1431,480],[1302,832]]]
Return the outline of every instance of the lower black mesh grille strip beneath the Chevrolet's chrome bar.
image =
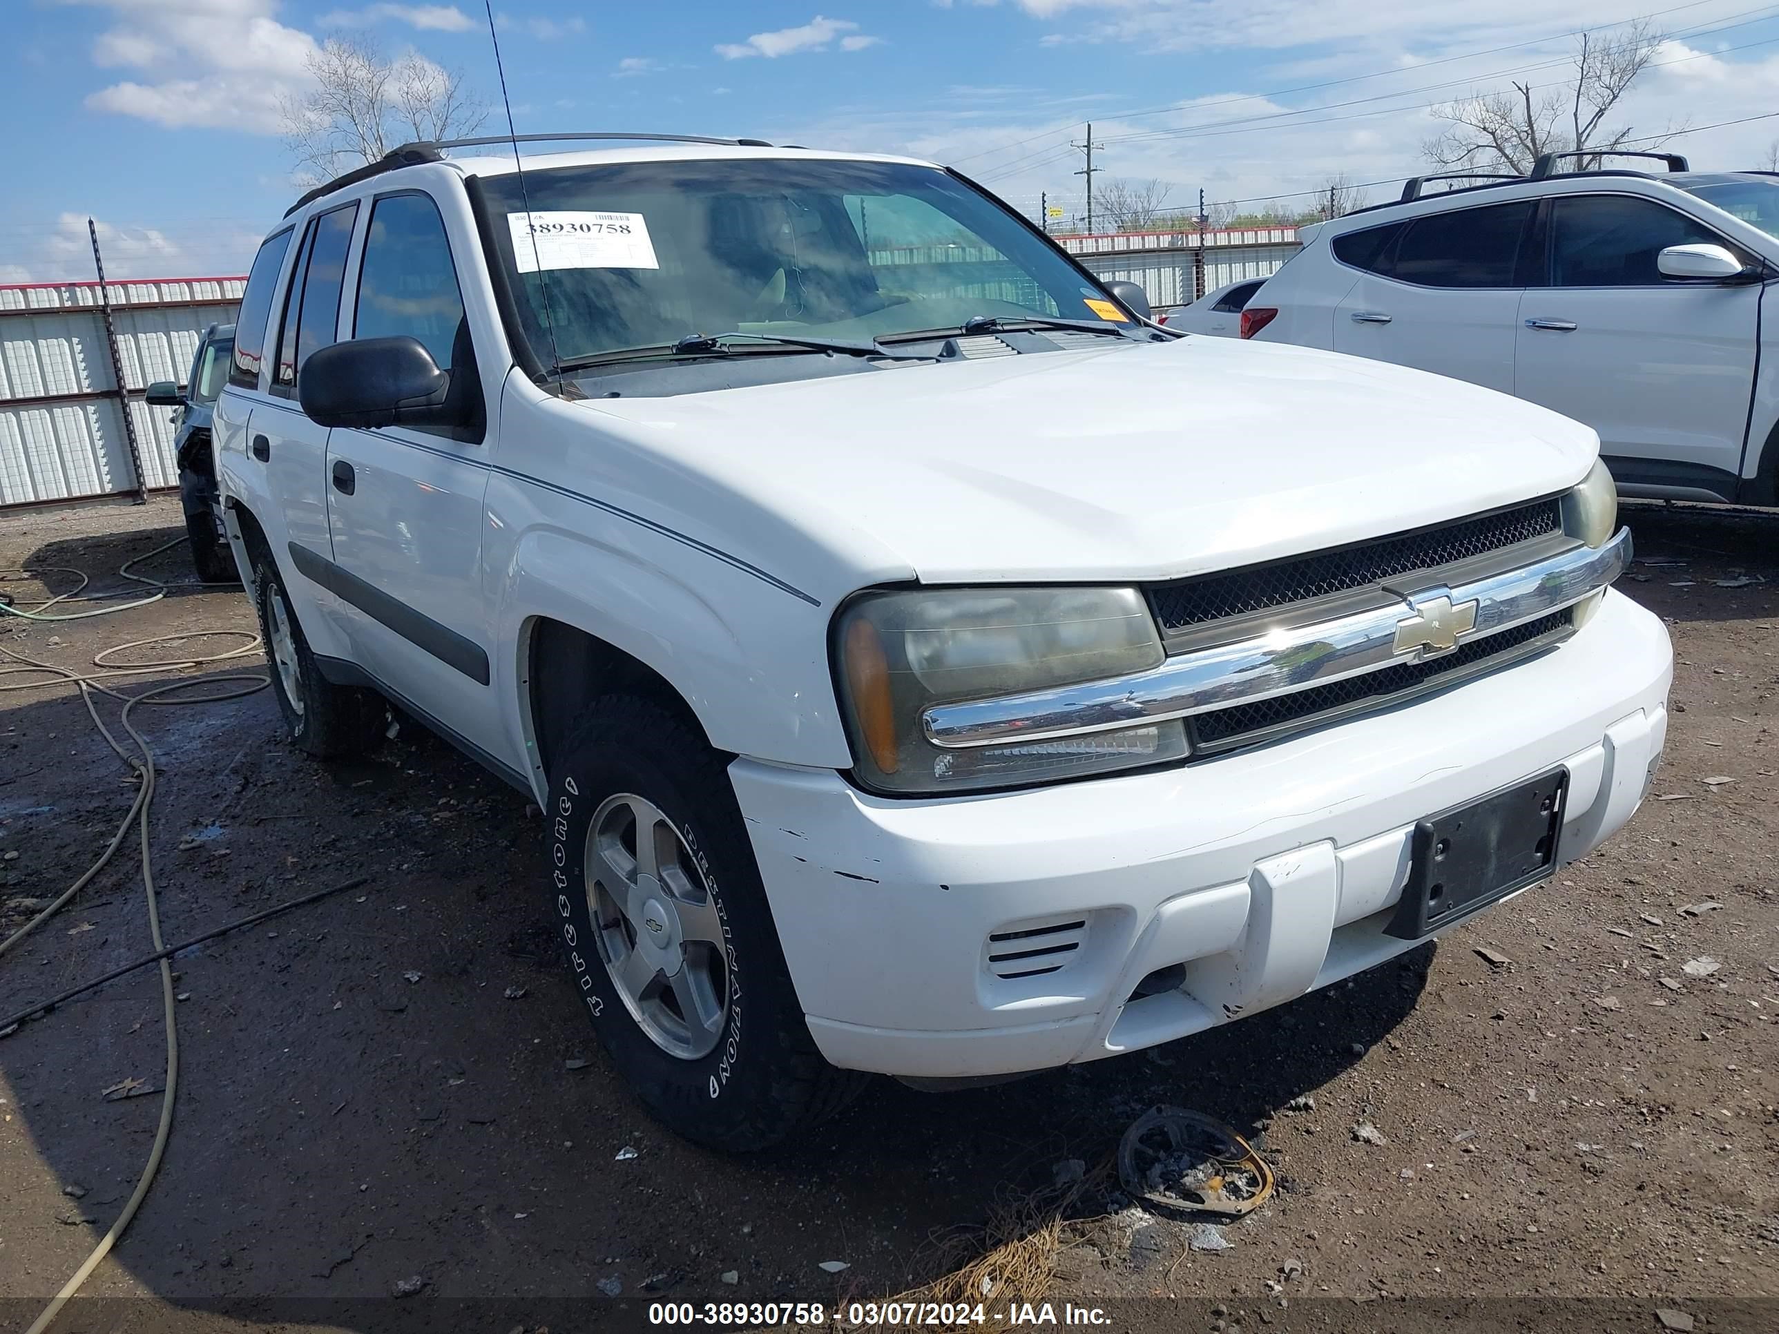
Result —
[[[1485,639],[1473,639],[1461,644],[1453,653],[1445,653],[1427,662],[1384,667],[1364,676],[1348,676],[1345,681],[1311,687],[1276,699],[1261,699],[1254,704],[1236,704],[1213,713],[1199,713],[1187,719],[1192,736],[1192,749],[1229,751],[1236,745],[1249,745],[1261,738],[1270,738],[1281,731],[1299,731],[1336,713],[1363,708],[1377,708],[1389,703],[1391,695],[1404,695],[1423,688],[1432,688],[1441,678],[1464,669],[1484,671],[1491,658],[1525,649],[1541,639],[1555,640],[1574,624],[1574,612],[1564,608],[1541,615],[1512,630],[1503,630]]]

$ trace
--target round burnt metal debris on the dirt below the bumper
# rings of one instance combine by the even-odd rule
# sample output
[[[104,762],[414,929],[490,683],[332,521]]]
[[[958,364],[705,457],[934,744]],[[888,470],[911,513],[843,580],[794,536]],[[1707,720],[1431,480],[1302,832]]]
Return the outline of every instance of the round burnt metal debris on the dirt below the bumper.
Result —
[[[1117,1174],[1156,1213],[1242,1218],[1272,1195],[1272,1169],[1229,1126],[1179,1106],[1151,1106],[1117,1147]]]

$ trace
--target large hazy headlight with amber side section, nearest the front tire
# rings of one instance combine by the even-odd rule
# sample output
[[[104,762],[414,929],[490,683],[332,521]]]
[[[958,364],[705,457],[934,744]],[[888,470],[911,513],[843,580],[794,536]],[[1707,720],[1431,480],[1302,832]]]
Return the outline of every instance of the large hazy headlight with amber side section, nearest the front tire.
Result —
[[[1187,754],[1179,722],[1048,742],[943,749],[932,704],[1098,681],[1162,663],[1135,589],[916,589],[854,598],[834,626],[840,699],[859,781],[879,792],[1009,788]]]

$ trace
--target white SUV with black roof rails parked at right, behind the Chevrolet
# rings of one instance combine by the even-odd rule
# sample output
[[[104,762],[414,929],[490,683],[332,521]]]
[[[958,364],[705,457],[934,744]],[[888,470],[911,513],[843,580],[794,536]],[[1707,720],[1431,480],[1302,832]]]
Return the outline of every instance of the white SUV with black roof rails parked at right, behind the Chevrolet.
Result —
[[[1772,173],[1558,173],[1404,199],[1318,228],[1244,336],[1420,366],[1585,422],[1619,489],[1779,503]],[[1473,180],[1473,176],[1471,176]],[[1256,309],[1265,308],[1265,309]]]

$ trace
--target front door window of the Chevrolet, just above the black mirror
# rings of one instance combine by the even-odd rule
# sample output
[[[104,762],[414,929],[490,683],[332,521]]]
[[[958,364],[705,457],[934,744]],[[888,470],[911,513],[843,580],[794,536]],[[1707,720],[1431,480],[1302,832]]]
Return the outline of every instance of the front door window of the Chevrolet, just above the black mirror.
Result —
[[[358,269],[352,336],[418,338],[439,370],[450,370],[459,324],[463,292],[438,205],[425,194],[379,199]]]

